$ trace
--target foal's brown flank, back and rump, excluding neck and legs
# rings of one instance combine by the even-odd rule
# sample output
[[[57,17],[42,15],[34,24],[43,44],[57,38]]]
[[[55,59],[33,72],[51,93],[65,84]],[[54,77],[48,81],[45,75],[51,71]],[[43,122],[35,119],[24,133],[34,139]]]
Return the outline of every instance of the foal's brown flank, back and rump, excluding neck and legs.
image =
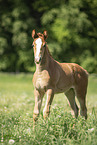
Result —
[[[56,85],[62,91],[69,88],[85,86],[88,84],[88,73],[85,69],[75,63],[58,63],[60,78]]]

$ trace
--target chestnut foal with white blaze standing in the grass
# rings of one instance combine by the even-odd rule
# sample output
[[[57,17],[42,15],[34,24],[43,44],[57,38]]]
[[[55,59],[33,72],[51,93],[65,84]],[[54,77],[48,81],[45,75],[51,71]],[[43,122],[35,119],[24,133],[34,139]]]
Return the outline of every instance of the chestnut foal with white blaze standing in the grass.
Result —
[[[64,92],[75,117],[78,116],[78,106],[75,95],[80,103],[80,114],[87,119],[86,93],[88,73],[75,63],[59,63],[54,60],[46,43],[47,31],[43,34],[32,31],[36,71],[33,76],[35,107],[33,120],[38,119],[42,99],[47,93],[47,101],[43,110],[43,117],[48,117],[54,94]]]

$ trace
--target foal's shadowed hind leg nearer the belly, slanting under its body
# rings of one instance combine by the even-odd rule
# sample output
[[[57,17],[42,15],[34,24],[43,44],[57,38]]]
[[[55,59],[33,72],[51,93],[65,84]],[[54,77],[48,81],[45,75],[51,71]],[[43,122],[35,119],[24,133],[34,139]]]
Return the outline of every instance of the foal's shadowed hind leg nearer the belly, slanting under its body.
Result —
[[[74,92],[74,89],[71,88],[69,91],[67,91],[65,93],[65,95],[66,95],[66,97],[67,97],[67,99],[68,99],[68,101],[70,103],[71,108],[74,111],[75,117],[77,118],[78,117],[78,110],[79,109],[78,109],[78,106],[77,106],[77,104],[75,102],[75,92]]]

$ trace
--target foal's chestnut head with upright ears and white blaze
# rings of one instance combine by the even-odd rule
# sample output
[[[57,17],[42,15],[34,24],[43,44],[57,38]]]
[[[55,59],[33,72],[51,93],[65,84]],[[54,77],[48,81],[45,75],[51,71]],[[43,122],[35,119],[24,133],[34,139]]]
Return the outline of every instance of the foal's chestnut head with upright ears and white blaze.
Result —
[[[34,57],[35,63],[40,63],[46,46],[47,31],[44,31],[43,34],[36,33],[35,30],[32,31],[33,48],[34,48]]]

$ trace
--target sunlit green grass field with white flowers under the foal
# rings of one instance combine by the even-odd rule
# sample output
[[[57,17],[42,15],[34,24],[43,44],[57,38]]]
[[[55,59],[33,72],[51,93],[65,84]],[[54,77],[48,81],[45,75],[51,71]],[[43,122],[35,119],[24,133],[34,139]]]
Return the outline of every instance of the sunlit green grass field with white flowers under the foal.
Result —
[[[89,76],[88,119],[71,115],[64,94],[55,95],[51,113],[33,131],[32,74],[0,73],[0,145],[97,145],[97,75]],[[78,102],[77,102],[78,103]]]

